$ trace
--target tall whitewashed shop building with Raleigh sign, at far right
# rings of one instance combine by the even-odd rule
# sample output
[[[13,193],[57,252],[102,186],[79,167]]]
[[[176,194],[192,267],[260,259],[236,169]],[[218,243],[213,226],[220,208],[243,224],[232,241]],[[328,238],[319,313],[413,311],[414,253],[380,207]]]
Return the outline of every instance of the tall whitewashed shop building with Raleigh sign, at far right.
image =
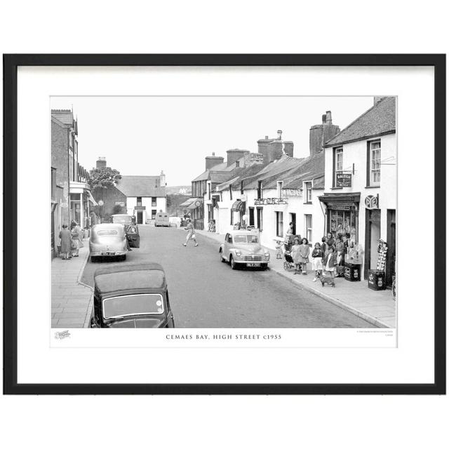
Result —
[[[361,272],[377,264],[387,242],[387,285],[396,274],[396,98],[374,105],[325,144],[325,189],[320,196],[326,232],[347,234],[361,248]]]

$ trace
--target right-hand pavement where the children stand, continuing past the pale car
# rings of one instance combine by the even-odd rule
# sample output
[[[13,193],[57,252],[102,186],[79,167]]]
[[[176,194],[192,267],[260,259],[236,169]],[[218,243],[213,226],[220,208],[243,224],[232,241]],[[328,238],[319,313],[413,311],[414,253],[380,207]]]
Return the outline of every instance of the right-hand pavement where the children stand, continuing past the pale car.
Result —
[[[225,234],[215,234],[198,229],[195,232],[220,243],[225,240]],[[320,281],[313,282],[314,272],[309,270],[307,276],[294,275],[293,271],[288,272],[283,268],[283,259],[276,259],[276,250],[266,249],[270,253],[269,268],[273,272],[323,300],[350,311],[374,326],[396,328],[396,301],[391,296],[391,290],[371,290],[368,288],[367,281],[351,282],[344,278],[335,278],[335,288],[323,287]],[[308,264],[309,268],[310,265]]]

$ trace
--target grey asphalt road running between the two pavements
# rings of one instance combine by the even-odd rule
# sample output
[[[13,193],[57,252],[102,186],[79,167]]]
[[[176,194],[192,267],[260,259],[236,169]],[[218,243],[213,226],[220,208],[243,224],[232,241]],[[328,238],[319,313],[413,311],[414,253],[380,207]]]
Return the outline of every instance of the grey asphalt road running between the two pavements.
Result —
[[[159,262],[166,271],[177,328],[371,328],[367,321],[297,288],[274,272],[221,263],[217,243],[199,236],[182,246],[185,231],[140,226],[140,248],[126,262],[86,264],[82,281],[93,286],[98,267]]]

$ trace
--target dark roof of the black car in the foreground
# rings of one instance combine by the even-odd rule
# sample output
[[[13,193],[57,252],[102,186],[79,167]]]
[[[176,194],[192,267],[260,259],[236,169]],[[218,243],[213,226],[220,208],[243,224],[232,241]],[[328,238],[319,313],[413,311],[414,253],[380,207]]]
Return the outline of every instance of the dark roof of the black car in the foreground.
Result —
[[[95,286],[102,293],[133,288],[162,288],[165,274],[160,269],[116,272],[95,276]]]

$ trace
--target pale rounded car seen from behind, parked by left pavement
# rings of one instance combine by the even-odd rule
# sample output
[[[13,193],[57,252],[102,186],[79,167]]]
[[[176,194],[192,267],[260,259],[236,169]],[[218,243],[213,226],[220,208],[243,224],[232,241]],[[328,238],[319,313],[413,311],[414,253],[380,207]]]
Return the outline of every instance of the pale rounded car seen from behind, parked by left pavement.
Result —
[[[128,243],[123,225],[101,223],[93,226],[89,239],[89,251],[92,262],[95,262],[98,257],[120,257],[121,260],[125,260]]]

